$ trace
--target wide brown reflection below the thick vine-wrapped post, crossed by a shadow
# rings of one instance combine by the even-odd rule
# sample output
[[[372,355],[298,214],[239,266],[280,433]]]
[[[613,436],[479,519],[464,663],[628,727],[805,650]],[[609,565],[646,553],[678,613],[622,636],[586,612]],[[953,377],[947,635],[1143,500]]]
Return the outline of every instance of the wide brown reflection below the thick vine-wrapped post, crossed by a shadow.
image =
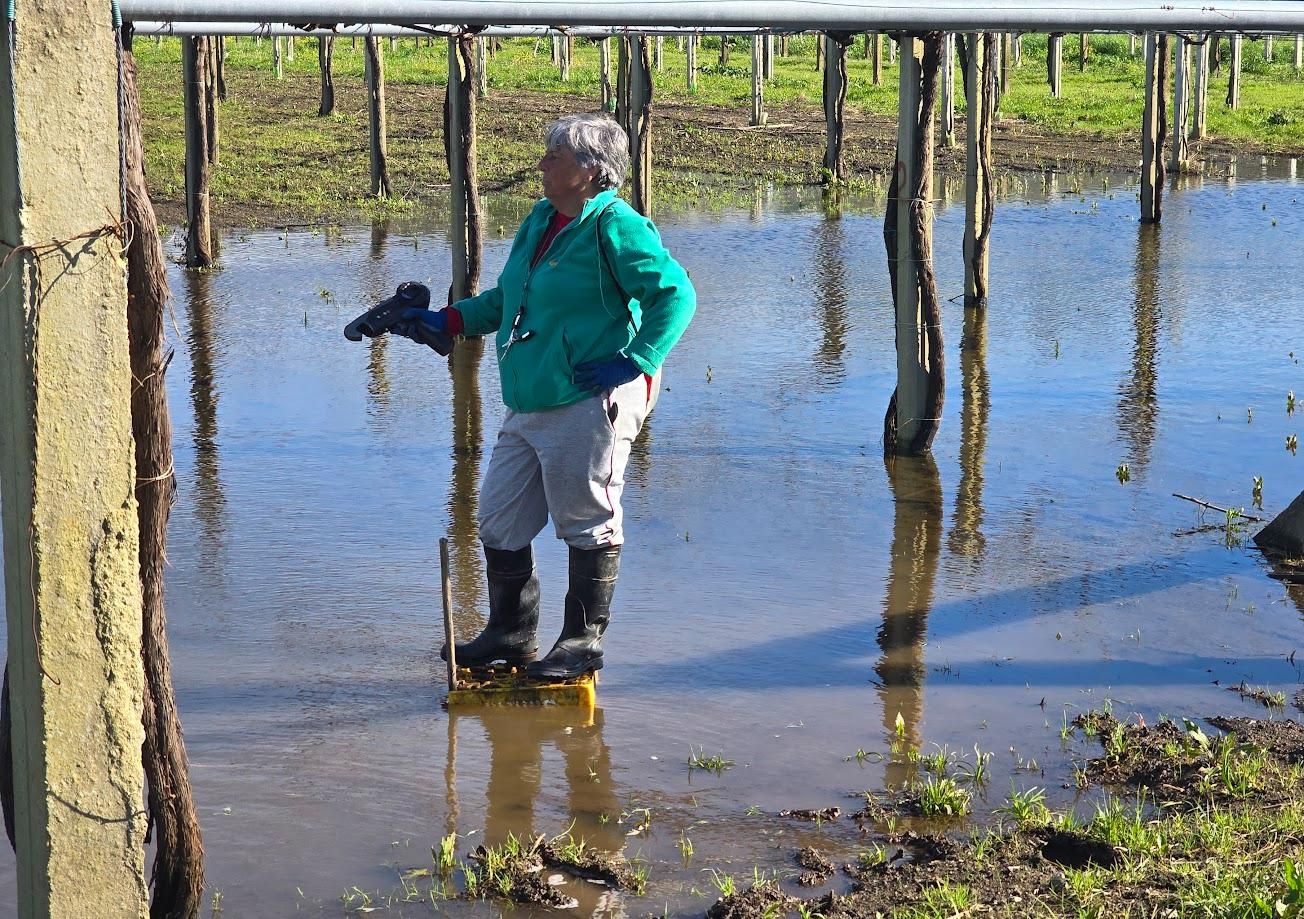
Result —
[[[895,512],[892,558],[879,627],[882,657],[874,670],[879,677],[888,742],[897,738],[900,714],[902,740],[917,748],[923,720],[923,640],[941,547],[941,477],[928,455],[887,456],[884,465]],[[891,789],[901,787],[910,780],[911,769],[904,748],[896,744],[884,782]]]

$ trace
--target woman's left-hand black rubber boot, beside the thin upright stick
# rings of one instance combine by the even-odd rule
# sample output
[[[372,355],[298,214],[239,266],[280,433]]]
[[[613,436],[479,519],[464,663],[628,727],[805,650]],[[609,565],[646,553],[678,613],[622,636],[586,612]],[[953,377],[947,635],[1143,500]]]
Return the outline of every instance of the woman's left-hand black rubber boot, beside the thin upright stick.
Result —
[[[458,641],[458,666],[479,667],[494,661],[524,665],[539,657],[539,576],[535,551],[485,546],[489,581],[489,622],[471,641]],[[439,657],[449,660],[449,649]]]

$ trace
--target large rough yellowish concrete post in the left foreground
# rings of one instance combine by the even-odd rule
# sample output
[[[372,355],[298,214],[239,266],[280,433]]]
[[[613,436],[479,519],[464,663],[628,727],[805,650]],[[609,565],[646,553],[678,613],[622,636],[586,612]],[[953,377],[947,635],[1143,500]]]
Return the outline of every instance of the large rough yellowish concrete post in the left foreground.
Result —
[[[17,877],[7,897],[25,918],[142,919],[145,684],[115,38],[98,0],[9,9],[0,493]]]

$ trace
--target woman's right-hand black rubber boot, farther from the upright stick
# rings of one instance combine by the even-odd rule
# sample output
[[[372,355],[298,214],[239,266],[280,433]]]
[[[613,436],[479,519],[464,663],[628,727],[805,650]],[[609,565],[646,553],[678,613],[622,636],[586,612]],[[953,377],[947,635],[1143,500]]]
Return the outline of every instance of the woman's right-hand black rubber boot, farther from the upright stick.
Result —
[[[569,679],[602,669],[602,632],[612,618],[612,596],[621,571],[621,547],[570,550],[570,591],[562,636],[527,673],[539,679]]]

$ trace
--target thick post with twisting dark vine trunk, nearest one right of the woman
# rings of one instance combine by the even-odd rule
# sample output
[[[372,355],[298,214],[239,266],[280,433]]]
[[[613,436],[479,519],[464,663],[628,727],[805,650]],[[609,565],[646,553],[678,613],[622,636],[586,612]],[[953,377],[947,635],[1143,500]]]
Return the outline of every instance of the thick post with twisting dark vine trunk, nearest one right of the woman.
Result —
[[[932,121],[941,38],[901,34],[896,168],[884,241],[896,304],[897,387],[883,425],[888,452],[922,454],[941,420],[945,374],[932,270]]]

